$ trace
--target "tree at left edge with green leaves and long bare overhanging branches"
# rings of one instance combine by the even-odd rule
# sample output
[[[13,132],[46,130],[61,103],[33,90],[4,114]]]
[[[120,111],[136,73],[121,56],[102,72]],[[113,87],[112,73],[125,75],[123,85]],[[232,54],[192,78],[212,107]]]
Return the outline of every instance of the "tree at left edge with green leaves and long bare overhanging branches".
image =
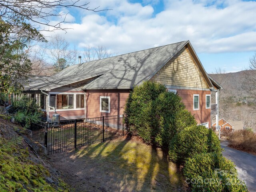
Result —
[[[29,42],[47,42],[43,30],[67,30],[61,25],[67,15],[60,12],[62,8],[102,11],[90,9],[89,3],[80,4],[79,0],[0,1],[0,93],[22,90],[20,82],[30,76],[32,63],[23,52]]]

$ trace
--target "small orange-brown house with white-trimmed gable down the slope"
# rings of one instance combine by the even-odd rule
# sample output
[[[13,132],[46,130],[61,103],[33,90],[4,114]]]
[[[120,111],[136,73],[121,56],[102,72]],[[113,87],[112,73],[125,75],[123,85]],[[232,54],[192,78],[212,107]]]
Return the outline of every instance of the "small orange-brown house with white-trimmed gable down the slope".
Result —
[[[212,126],[216,128],[216,122]],[[226,121],[221,118],[217,129],[220,129],[221,132],[233,132],[235,130],[243,130],[244,128],[242,121]]]

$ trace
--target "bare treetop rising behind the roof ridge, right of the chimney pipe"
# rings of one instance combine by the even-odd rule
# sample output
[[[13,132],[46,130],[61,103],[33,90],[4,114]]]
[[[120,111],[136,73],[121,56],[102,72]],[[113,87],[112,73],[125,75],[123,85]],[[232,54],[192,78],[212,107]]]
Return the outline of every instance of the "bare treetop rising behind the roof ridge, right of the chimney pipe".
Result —
[[[84,62],[109,58],[115,56],[116,53],[108,51],[104,46],[90,47],[87,46],[84,48]]]

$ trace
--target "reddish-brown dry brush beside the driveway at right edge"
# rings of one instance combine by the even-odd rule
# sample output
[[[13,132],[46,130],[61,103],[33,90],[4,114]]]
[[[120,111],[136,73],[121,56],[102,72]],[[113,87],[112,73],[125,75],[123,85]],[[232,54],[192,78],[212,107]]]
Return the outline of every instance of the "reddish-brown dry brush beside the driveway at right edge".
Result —
[[[256,154],[256,134],[250,130],[237,130],[230,134],[230,146]]]

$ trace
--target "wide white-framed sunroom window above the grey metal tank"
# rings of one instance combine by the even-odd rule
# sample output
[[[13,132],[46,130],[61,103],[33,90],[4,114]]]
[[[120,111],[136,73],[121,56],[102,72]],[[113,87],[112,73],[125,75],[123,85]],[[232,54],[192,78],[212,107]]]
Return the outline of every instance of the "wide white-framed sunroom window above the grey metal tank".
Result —
[[[74,95],[50,94],[50,106],[56,109],[74,109]]]

